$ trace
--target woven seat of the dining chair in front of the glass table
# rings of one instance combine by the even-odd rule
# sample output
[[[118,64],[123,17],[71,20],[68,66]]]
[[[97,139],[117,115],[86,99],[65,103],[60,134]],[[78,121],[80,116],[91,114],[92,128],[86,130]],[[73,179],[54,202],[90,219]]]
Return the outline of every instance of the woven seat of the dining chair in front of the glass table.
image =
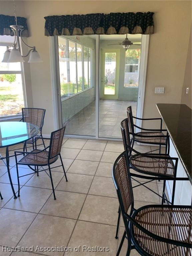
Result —
[[[48,151],[41,151],[40,149],[34,149],[31,152],[37,152],[36,154],[28,153],[23,158],[18,161],[18,164],[25,164],[25,165],[38,165],[44,166],[48,165]],[[38,153],[39,152],[39,153]],[[58,156],[53,157],[50,159],[49,163],[54,163],[58,159]]]

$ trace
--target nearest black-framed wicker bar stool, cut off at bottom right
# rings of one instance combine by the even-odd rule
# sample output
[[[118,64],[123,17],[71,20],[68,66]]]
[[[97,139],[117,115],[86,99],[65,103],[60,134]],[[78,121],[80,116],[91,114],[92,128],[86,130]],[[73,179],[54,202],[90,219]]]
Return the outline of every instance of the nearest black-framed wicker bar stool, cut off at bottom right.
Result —
[[[128,241],[126,256],[132,249],[144,256],[191,256],[191,206],[146,205],[134,209],[126,151],[115,160],[112,176],[125,225],[117,256],[125,238]]]

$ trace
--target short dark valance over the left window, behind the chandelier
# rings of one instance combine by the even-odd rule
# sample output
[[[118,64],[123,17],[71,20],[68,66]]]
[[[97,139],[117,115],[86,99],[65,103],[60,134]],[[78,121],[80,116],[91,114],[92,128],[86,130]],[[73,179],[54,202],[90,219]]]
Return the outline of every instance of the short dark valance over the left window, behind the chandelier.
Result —
[[[29,37],[29,31],[27,28],[26,18],[17,17],[17,25],[23,26],[22,36]],[[10,25],[16,25],[15,17],[0,14],[0,35],[1,36],[14,36],[13,31],[9,27]]]

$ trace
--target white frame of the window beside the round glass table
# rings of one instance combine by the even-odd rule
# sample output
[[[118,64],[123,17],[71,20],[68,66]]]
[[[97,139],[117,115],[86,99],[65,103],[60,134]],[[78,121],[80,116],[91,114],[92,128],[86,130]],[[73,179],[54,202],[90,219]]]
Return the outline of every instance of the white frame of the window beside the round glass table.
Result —
[[[20,38],[19,38],[19,40],[20,40]],[[0,45],[0,46],[4,46],[4,45]],[[22,53],[22,48],[21,48],[21,53]],[[6,70],[1,71],[0,70],[0,75],[3,75],[3,74],[21,74],[22,89],[23,89],[23,102],[24,102],[24,107],[26,108],[27,107],[27,97],[26,97],[26,86],[25,86],[23,62],[20,62],[20,65],[21,65],[21,70],[19,70],[19,71],[18,70],[17,71],[14,71],[14,70],[12,70],[12,71],[6,71]],[[22,118],[22,114],[0,116],[0,121],[8,120],[8,119],[19,119],[19,118]]]

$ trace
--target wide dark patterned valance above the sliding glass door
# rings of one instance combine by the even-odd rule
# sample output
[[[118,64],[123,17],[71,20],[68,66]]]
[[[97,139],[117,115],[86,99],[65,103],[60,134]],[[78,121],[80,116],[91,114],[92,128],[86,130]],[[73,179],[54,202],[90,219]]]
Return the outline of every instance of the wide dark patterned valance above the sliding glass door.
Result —
[[[153,12],[47,16],[45,35],[153,34]]]

